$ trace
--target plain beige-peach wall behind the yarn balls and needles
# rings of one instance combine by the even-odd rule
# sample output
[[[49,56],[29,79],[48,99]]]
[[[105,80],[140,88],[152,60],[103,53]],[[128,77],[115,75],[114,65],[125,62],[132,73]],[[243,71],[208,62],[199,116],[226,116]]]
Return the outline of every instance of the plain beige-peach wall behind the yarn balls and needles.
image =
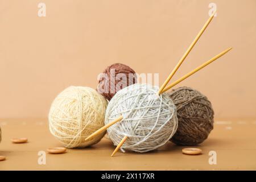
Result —
[[[46,17],[38,17],[38,3]],[[46,118],[69,85],[96,88],[109,64],[137,73],[171,72],[209,18],[217,17],[176,78],[232,46],[179,86],[199,89],[217,117],[256,117],[256,1],[3,1],[0,0],[0,118]]]

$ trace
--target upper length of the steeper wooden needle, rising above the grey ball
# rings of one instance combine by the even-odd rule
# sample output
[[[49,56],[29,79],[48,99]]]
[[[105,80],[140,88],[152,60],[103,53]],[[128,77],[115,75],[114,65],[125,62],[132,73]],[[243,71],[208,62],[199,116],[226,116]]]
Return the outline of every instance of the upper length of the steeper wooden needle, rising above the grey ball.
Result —
[[[171,80],[171,78],[174,76],[174,74],[176,73],[177,69],[179,69],[180,65],[183,63],[183,61],[185,60],[185,58],[188,56],[189,52],[192,50],[192,48],[195,46],[196,42],[199,40],[199,38],[201,37],[201,35],[204,33],[205,29],[208,27],[208,25],[210,24],[210,22],[212,21],[214,14],[216,13],[216,11],[212,14],[212,16],[210,16],[210,18],[207,20],[207,22],[204,24],[203,28],[200,30],[200,32],[197,34],[196,38],[193,40],[193,42],[191,43],[191,45],[189,46],[189,48],[187,49],[187,51],[184,53],[184,55],[181,57],[181,59],[179,60],[179,62],[177,63],[176,67],[174,68],[174,70],[172,70],[171,74],[167,77],[166,81],[164,81],[163,85],[160,87],[160,89],[158,90],[158,95],[160,93],[163,92],[163,89],[166,87],[166,85],[168,84],[168,82]]]

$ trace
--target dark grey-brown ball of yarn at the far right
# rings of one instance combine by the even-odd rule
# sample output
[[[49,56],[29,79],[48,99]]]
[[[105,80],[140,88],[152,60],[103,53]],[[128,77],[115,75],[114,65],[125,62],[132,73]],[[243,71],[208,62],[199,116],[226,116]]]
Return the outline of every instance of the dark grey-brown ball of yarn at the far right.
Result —
[[[168,93],[177,108],[179,126],[171,141],[193,146],[208,138],[213,129],[212,104],[199,91],[180,87]]]

